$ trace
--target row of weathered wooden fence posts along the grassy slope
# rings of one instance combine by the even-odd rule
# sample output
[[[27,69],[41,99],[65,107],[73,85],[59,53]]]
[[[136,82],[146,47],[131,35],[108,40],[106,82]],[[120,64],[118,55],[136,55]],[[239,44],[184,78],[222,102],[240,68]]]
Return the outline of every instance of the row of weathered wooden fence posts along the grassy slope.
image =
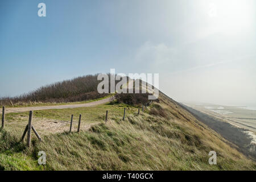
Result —
[[[142,105],[142,111],[144,112],[144,107],[147,107],[147,105]],[[125,120],[125,114],[126,114],[126,108],[123,109],[123,118],[122,120],[124,121]],[[106,116],[105,116],[105,123],[108,122],[108,113],[109,111],[106,110]],[[140,107],[138,107],[138,114],[140,113]],[[72,133],[72,124],[73,124],[73,117],[74,115],[72,114],[71,115],[71,122],[70,122],[70,127],[69,127],[69,133]],[[81,118],[82,118],[82,115],[80,114],[79,115],[79,124],[78,124],[78,127],[77,127],[77,133],[80,132],[80,125],[81,125]],[[22,138],[20,140],[20,142],[23,142],[24,140],[24,137],[26,136],[27,134],[27,147],[30,147],[30,143],[31,143],[31,131],[34,132],[34,134],[36,135],[36,137],[39,139],[39,141],[42,141],[42,138],[40,137],[40,135],[38,134],[38,132],[36,131],[35,127],[32,125],[32,120],[33,120],[33,111],[30,111],[30,114],[29,114],[29,118],[28,118],[28,124],[26,125],[25,127],[25,130],[22,134]],[[5,127],[5,106],[3,106],[2,108],[2,127],[1,127],[1,130]]]

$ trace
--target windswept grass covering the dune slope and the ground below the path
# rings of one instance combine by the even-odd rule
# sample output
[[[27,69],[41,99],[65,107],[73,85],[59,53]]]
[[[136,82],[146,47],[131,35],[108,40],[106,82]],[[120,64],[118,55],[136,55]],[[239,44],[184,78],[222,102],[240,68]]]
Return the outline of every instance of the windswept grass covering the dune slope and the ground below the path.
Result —
[[[122,121],[124,107],[129,108],[125,121]],[[105,124],[107,109],[109,121]],[[83,123],[94,124],[80,133],[63,131],[43,135],[44,142],[33,138],[30,148],[19,142],[23,127],[18,131],[17,123],[27,123],[27,118],[16,121],[20,114],[28,115],[7,114],[7,119],[15,120],[15,127],[6,125],[0,132],[0,169],[43,170],[37,164],[39,151],[46,152],[47,170],[256,169],[255,162],[167,100],[160,99],[159,104],[152,104],[139,115],[136,107],[124,104],[36,111],[35,119],[61,121],[69,120],[71,114],[76,118],[82,114]],[[217,152],[217,165],[208,164],[208,153],[212,150]]]

